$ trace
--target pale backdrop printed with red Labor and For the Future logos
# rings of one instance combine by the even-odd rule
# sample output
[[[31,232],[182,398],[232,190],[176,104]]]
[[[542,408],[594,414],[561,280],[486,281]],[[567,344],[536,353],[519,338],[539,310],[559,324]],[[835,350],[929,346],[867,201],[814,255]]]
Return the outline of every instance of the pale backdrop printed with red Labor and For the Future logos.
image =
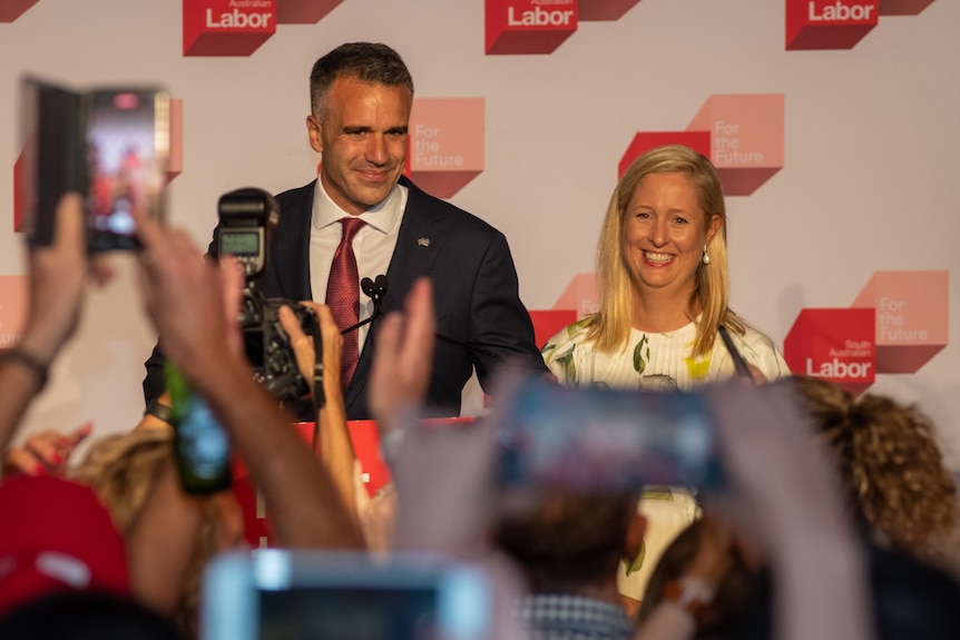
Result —
[[[25,73],[165,88],[167,218],[206,246],[222,194],[315,177],[314,60],[383,41],[417,89],[404,173],[506,234],[538,341],[597,308],[617,178],[683,142],[723,181],[733,308],[794,373],[919,403],[960,470],[958,28],[951,0],[0,0],[0,348],[27,308]],[[139,420],[156,335],[114,258],[25,433]]]

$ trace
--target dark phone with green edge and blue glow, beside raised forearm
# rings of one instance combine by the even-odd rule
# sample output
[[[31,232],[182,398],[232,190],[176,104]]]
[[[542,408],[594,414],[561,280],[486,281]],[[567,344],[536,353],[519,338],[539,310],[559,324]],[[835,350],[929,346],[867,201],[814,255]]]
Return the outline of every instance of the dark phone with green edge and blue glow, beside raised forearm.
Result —
[[[165,375],[180,486],[200,495],[228,489],[233,473],[227,433],[176,366],[167,362]]]

